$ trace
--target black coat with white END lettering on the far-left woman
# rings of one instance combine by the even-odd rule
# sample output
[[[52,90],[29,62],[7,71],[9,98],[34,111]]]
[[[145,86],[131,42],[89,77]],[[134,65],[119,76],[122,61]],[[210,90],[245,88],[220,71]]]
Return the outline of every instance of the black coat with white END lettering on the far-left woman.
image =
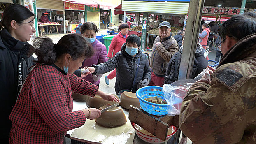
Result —
[[[33,46],[14,39],[6,29],[0,32],[1,137],[8,138],[12,126],[9,115],[16,103],[19,89],[28,74],[28,69],[34,64],[35,58],[31,56],[34,51]]]

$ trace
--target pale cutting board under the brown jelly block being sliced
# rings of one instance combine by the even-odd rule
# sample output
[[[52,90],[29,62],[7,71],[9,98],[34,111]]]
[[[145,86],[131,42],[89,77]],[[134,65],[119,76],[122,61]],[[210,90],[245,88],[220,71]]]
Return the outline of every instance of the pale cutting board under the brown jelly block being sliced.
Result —
[[[133,129],[128,113],[127,122],[124,125],[114,128],[106,128],[95,123],[95,120],[88,120],[83,126],[76,128],[71,139],[92,144],[133,144],[135,130]]]

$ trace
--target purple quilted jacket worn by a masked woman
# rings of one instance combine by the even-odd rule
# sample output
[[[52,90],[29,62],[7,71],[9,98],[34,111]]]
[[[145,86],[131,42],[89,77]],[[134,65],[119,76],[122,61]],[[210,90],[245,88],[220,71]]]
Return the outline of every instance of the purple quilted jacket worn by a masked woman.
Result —
[[[104,63],[107,61],[107,49],[106,46],[104,44],[102,44],[100,41],[98,41],[96,39],[95,42],[93,42],[91,44],[91,46],[93,47],[94,53],[93,56],[91,56],[91,58],[85,59],[83,62],[82,67],[90,67],[91,65],[98,65],[100,63]],[[83,79],[85,79],[86,81],[90,81],[91,83],[98,85],[100,84],[100,80],[98,81],[94,81],[92,74],[88,74],[86,77],[84,77]]]

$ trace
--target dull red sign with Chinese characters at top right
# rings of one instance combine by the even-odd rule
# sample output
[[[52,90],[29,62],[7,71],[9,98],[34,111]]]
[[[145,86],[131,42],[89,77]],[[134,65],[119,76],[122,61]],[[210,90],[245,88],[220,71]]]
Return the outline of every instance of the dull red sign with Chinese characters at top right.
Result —
[[[222,11],[221,11],[222,9]],[[204,14],[226,14],[226,15],[236,15],[239,14],[241,8],[237,7],[213,7],[204,6],[202,13]]]

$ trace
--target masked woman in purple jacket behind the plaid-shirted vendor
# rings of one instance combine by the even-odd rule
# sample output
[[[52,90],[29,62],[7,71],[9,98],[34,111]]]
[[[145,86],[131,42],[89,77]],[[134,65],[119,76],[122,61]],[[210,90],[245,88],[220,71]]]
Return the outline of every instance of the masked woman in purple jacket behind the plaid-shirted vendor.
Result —
[[[96,33],[98,33],[98,28],[95,23],[86,22],[81,26],[81,34],[86,40],[86,42],[93,47],[93,56],[91,58],[86,58],[82,64],[82,67],[88,67],[93,64],[98,65],[100,63],[104,63],[107,61],[107,49],[104,44],[102,44],[98,39],[96,39]],[[102,74],[93,75],[88,74],[86,77],[83,77],[86,81],[90,81],[91,83],[99,86],[100,77]]]

